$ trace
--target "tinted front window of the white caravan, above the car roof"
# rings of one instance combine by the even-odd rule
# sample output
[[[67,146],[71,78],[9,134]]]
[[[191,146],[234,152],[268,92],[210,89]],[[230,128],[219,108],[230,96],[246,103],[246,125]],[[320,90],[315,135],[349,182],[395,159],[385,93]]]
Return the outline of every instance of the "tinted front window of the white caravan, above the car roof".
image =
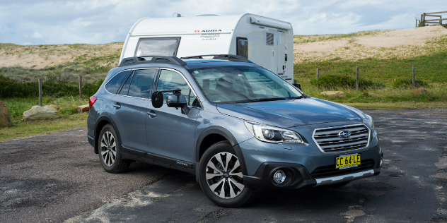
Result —
[[[179,42],[180,37],[140,39],[135,56],[177,56]]]

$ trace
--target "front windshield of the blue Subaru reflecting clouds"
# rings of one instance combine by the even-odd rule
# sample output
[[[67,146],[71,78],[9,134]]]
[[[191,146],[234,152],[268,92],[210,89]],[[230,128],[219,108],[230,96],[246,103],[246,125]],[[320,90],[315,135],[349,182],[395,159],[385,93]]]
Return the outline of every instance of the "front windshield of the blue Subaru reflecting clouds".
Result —
[[[290,100],[302,94],[286,80],[259,66],[190,69],[209,102],[243,103]]]

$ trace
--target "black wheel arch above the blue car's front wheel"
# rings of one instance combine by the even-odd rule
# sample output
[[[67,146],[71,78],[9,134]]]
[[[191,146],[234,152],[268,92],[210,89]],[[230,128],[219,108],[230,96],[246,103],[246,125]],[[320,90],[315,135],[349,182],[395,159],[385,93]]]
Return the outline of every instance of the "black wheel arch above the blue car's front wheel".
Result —
[[[221,126],[211,126],[206,128],[197,138],[197,143],[195,147],[195,162],[200,162],[202,155],[208,149],[209,146],[214,143],[219,143],[221,141],[228,140],[228,142],[233,146],[234,152],[238,156],[240,162],[240,169],[242,174],[247,174],[247,168],[245,167],[245,159],[243,153],[240,150],[239,143],[236,138],[231,134],[230,131],[226,130]]]

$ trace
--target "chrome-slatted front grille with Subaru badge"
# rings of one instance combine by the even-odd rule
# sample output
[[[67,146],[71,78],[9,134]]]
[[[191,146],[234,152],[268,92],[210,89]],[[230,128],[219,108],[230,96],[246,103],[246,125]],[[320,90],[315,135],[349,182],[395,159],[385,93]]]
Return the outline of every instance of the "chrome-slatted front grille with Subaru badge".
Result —
[[[349,131],[349,138],[340,138],[340,131]],[[345,152],[361,150],[368,147],[369,129],[364,124],[352,126],[335,126],[330,128],[316,128],[313,132],[313,140],[323,153]]]

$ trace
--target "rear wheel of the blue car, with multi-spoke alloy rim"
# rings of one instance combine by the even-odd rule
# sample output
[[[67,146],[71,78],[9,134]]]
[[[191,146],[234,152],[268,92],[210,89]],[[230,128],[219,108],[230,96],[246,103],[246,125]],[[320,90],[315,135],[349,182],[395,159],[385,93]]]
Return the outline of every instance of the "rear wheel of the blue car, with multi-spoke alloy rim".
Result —
[[[118,174],[129,168],[130,162],[121,158],[121,142],[115,128],[107,124],[100,131],[98,140],[98,154],[105,171]]]

